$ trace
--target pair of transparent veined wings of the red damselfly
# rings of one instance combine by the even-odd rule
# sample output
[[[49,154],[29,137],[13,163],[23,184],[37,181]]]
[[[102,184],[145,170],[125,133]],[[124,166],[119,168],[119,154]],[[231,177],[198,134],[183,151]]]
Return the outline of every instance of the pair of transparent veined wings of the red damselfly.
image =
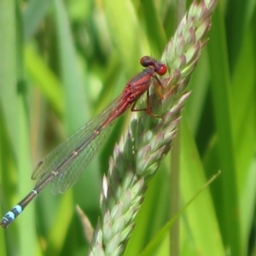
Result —
[[[63,193],[79,179],[79,176],[88,166],[102,145],[110,130],[110,122],[100,132],[102,123],[108,119],[117,108],[120,97],[113,101],[108,108],[82,126],[73,135],[51,151],[32,172],[32,179],[37,179],[37,185],[51,172],[57,172],[56,177],[50,182],[50,190],[54,194]],[[79,154],[73,154],[83,146]],[[65,164],[63,164],[65,163]]]

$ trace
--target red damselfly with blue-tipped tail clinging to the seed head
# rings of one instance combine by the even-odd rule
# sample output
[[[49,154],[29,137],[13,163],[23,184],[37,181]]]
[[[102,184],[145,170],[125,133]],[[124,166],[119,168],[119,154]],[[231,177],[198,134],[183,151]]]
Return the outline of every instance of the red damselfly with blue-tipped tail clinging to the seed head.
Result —
[[[102,113],[97,115],[95,119],[92,119],[73,133],[71,137],[68,137],[51,151],[44,160],[38,163],[38,166],[32,172],[32,179],[36,179],[38,182],[24,199],[4,215],[0,222],[3,228],[7,228],[48,184],[50,184],[50,190],[57,194],[64,193],[76,183],[107,137],[113,120],[124,113],[127,108],[131,107],[131,111],[144,110],[149,115],[155,116],[150,110],[148,90],[152,79],[155,79],[154,85],[156,87],[165,88],[160,83],[157,74],[164,75],[167,72],[167,67],[165,64],[148,56],[144,56],[141,59],[141,64],[145,67],[143,72],[138,73],[125,85],[125,89],[120,96],[105,108]],[[156,89],[160,93],[159,88]],[[146,91],[147,108],[135,109],[138,98]]]

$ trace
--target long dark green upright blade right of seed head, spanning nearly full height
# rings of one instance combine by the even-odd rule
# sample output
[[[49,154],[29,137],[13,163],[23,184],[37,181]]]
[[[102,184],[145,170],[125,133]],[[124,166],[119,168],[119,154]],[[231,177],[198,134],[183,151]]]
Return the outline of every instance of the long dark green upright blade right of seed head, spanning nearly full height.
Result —
[[[219,168],[223,173],[221,189],[223,205],[218,209],[224,243],[230,245],[232,255],[241,255],[241,226],[236,180],[234,123],[230,98],[230,72],[225,45],[224,20],[220,9],[212,22],[212,39],[209,42],[209,60],[212,75],[212,101],[218,136]],[[225,228],[223,229],[223,227]]]

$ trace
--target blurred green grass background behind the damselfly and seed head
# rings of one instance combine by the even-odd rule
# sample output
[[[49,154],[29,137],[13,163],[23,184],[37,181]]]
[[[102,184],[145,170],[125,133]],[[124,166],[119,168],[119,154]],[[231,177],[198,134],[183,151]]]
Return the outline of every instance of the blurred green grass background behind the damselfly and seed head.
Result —
[[[178,6],[190,2],[0,0],[2,215],[33,188],[38,161],[142,70],[143,55],[160,59],[177,27]],[[179,218],[180,229],[173,227],[147,255],[256,255],[255,22],[255,1],[218,1],[209,43],[189,83],[180,151],[172,156],[180,159],[180,170],[171,175],[167,156],[149,183],[126,255],[141,253],[170,212],[218,170],[218,179]],[[95,226],[102,173],[130,116],[114,123],[79,183],[64,195],[44,189],[8,230],[0,230],[0,255],[87,252],[75,205]]]

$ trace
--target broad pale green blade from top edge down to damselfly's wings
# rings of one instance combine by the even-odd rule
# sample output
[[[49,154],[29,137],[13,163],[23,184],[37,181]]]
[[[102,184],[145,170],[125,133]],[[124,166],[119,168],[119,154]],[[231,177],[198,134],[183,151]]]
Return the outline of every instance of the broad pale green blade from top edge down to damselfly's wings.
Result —
[[[66,10],[60,0],[55,0],[55,19],[58,36],[61,78],[64,84],[64,101],[69,133],[84,125],[86,108],[83,82],[79,73],[73,38],[67,20]],[[88,117],[88,112],[87,112]]]

